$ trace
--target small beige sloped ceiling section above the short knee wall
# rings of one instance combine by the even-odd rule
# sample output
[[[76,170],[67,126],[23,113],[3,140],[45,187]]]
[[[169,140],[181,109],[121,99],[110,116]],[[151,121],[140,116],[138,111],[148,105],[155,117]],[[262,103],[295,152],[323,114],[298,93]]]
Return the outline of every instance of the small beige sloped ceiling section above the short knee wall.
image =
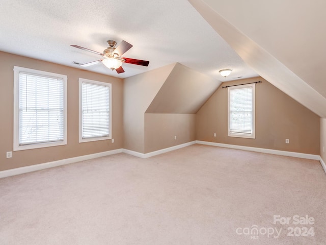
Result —
[[[196,113],[221,83],[176,63],[146,113]]]

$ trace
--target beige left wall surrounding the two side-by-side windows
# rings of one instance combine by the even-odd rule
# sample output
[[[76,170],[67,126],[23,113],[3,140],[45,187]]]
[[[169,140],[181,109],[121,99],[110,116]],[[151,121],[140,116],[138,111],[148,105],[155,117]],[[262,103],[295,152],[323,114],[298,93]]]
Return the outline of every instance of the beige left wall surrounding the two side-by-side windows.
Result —
[[[67,75],[68,118],[67,145],[13,151],[13,66],[55,72]],[[105,152],[123,147],[123,80],[77,68],[53,64],[0,52],[0,170],[56,161],[76,156]],[[78,143],[78,78],[112,83],[112,137],[111,140]]]

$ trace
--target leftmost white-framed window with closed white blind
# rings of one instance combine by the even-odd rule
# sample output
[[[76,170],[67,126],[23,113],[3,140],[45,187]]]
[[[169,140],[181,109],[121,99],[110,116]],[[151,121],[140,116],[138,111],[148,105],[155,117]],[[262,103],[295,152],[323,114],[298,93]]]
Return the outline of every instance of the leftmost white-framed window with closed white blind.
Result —
[[[67,144],[67,76],[14,66],[14,151]]]

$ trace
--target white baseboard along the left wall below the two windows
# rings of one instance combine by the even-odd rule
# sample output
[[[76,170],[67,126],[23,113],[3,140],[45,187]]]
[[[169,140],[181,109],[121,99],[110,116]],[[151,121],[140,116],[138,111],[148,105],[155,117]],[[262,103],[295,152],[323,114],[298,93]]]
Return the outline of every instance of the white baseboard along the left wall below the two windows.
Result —
[[[9,177],[9,176],[14,176],[14,175],[20,175],[20,174],[29,173],[32,171],[37,171],[37,170],[41,170],[41,169],[45,169],[45,168],[66,165],[69,163],[85,161],[85,160],[89,160],[89,159],[93,159],[93,158],[97,158],[97,157],[109,156],[109,155],[113,155],[113,154],[117,154],[117,153],[122,153],[122,149],[117,149],[117,150],[112,150],[112,151],[107,151],[107,152],[99,152],[99,153],[89,154],[89,155],[85,155],[85,156],[72,157],[72,158],[62,159],[62,160],[53,161],[53,162],[35,164],[35,165],[31,165],[31,166],[13,168],[13,169],[9,169],[9,170],[0,171],[0,178],[5,178],[5,177]]]

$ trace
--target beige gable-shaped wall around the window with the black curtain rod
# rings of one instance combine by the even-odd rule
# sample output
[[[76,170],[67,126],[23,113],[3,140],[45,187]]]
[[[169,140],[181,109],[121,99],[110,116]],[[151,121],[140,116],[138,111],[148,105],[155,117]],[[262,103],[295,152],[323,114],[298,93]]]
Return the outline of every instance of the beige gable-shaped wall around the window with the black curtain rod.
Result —
[[[259,80],[262,83],[256,85],[256,139],[228,137],[228,90],[222,86]],[[286,138],[289,144],[285,143]],[[319,155],[319,116],[262,78],[243,79],[222,84],[198,111],[196,139]]]

